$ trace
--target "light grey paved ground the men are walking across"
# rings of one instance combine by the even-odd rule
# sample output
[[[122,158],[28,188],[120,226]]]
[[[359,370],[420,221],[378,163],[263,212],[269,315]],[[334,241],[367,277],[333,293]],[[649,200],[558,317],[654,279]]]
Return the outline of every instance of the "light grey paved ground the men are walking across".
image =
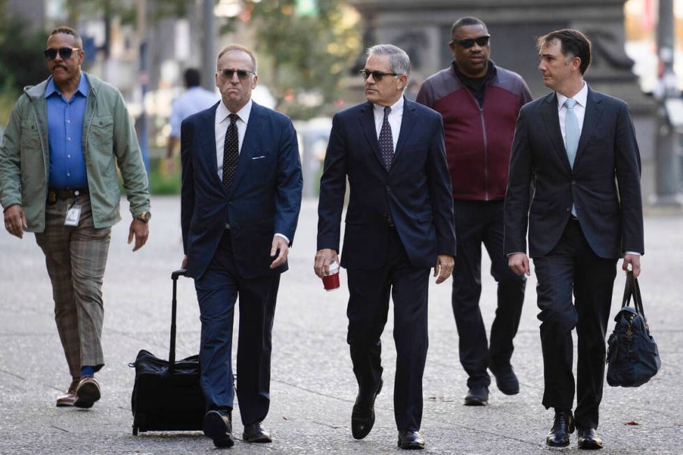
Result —
[[[190,454],[216,453],[201,433],[131,433],[128,362],[141,348],[167,357],[171,270],[182,258],[179,199],[153,199],[150,240],[132,254],[128,221],[112,232],[105,276],[104,348],[98,374],[102,399],[91,410],[55,408],[70,382],[53,319],[52,291],[43,254],[33,234],[23,240],[0,233],[0,454]],[[125,210],[128,203],[122,203]],[[376,401],[373,431],[351,437],[356,385],[346,345],[346,276],[342,290],[325,293],[313,273],[316,201],[305,201],[290,271],[282,279],[275,327],[271,407],[265,425],[272,445],[238,440],[237,454],[385,454],[398,452],[392,410],[395,353],[390,316],[383,336],[385,387]],[[128,219],[128,215],[125,215]],[[659,343],[663,367],[643,387],[605,387],[599,432],[602,454],[683,454],[683,219],[647,217],[643,276],[645,311]],[[485,256],[485,255],[484,255]],[[485,259],[487,261],[487,259]],[[484,272],[489,264],[482,266]],[[430,288],[429,355],[424,375],[422,434],[426,453],[544,454],[552,412],[540,404],[542,360],[535,304],[535,277],[527,286],[513,364],[521,393],[491,388],[490,405],[462,406],[466,377],[458,360],[450,281]],[[490,326],[496,288],[483,277],[482,308]],[[617,275],[615,314],[624,286]],[[199,311],[194,286],[178,286],[178,358],[199,350]],[[238,321],[235,321],[237,327]],[[612,323],[610,324],[611,330]],[[234,356],[233,356],[234,358]],[[238,410],[233,415],[241,435]],[[627,422],[636,422],[629,425]]]

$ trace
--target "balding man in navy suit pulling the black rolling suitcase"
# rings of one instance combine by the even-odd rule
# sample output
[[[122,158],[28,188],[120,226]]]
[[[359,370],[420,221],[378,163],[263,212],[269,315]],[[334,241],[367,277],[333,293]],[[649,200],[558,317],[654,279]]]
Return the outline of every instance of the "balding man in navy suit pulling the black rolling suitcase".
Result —
[[[222,100],[183,121],[183,268],[201,313],[204,434],[231,447],[232,326],[240,300],[237,396],[243,440],[270,442],[270,331],[280,274],[301,206],[301,164],[289,118],[251,100],[256,57],[229,45],[218,54]]]

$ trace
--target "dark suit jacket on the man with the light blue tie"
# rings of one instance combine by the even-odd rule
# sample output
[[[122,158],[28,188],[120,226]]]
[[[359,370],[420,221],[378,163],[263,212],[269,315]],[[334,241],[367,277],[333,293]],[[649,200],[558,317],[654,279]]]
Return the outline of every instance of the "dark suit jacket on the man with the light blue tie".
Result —
[[[629,107],[590,88],[574,169],[562,141],[555,93],[519,112],[505,195],[505,254],[526,252],[527,224],[530,256],[551,252],[572,203],[597,256],[645,252],[640,154]]]

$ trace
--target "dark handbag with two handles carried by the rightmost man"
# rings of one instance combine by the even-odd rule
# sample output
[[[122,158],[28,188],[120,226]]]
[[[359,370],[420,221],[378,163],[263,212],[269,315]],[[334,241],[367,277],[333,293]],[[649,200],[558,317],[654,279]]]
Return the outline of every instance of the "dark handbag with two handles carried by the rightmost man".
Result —
[[[634,300],[633,307],[630,306],[631,298]],[[617,323],[607,343],[607,383],[614,387],[643,385],[657,374],[661,360],[643,311],[638,279],[630,270],[622,308],[614,320]]]

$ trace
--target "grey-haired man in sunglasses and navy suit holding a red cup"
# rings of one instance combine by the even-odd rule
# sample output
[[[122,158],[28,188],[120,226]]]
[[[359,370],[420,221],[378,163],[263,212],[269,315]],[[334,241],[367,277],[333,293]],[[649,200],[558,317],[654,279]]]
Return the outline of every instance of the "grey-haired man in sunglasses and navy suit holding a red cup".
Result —
[[[429,269],[437,283],[453,271],[455,229],[441,116],[406,100],[410,59],[392,45],[368,50],[367,102],[332,120],[318,206],[316,275],[338,261],[346,192],[342,267],[348,272],[348,337],[358,397],[351,430],[364,438],[382,389],[380,337],[394,300],[398,445],[422,449],[422,373],[427,357]]]

